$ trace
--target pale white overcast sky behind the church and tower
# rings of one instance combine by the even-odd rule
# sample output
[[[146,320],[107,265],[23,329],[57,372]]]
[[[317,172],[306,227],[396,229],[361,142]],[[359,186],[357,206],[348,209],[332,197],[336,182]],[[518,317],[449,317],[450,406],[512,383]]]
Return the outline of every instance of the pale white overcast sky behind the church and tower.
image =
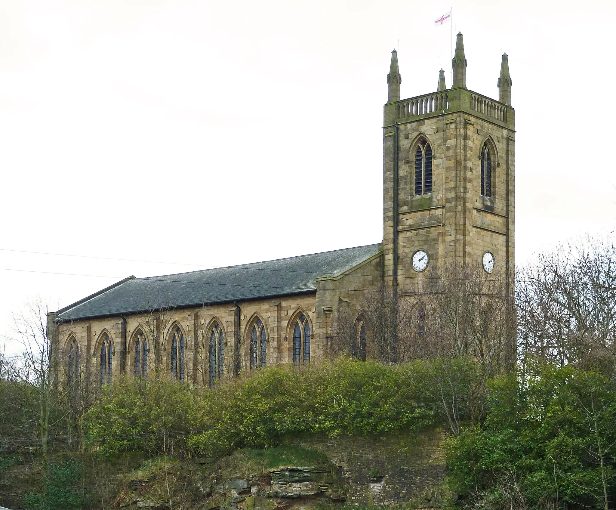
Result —
[[[451,6],[0,0],[0,336],[38,294],[381,241],[390,52],[402,97],[450,86]],[[469,89],[509,54],[517,262],[616,224],[615,14],[453,2]]]

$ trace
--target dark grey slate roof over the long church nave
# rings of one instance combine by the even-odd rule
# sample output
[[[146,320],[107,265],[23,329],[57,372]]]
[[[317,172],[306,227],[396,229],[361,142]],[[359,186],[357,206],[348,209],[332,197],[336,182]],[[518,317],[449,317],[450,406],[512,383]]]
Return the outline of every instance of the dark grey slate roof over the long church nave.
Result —
[[[57,312],[57,322],[135,314],[166,307],[246,301],[314,292],[316,279],[337,276],[379,253],[357,246],[189,273],[128,277]]]

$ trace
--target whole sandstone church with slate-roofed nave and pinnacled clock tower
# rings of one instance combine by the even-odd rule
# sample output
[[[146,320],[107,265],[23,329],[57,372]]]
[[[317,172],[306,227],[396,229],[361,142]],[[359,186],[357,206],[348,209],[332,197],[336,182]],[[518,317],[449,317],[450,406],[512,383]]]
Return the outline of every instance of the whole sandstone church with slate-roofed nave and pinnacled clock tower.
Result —
[[[240,371],[323,360],[343,307],[370,291],[405,296],[428,267],[482,265],[513,280],[515,112],[507,55],[498,100],[466,88],[462,34],[453,83],[400,99],[397,53],[383,121],[383,241],[287,259],[128,277],[47,318],[60,379],[118,376],[214,387]],[[357,323],[358,341],[367,335]]]

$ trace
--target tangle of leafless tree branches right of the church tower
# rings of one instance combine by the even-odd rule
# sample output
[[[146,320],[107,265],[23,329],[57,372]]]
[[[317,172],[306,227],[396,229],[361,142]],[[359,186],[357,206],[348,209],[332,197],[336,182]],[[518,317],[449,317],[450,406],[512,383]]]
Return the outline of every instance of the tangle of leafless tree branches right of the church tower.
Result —
[[[521,365],[614,364],[616,248],[586,237],[541,253],[517,270]]]

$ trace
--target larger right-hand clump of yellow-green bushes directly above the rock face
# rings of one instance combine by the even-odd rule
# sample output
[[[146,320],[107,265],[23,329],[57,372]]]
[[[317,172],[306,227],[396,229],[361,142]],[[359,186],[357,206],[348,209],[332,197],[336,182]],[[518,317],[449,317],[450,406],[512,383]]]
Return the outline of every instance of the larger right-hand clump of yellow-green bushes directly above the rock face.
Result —
[[[310,370],[267,368],[201,399],[196,412],[210,419],[189,445],[216,456],[272,447],[286,434],[382,434],[432,423],[432,412],[413,394],[404,370],[376,362],[343,358]]]

